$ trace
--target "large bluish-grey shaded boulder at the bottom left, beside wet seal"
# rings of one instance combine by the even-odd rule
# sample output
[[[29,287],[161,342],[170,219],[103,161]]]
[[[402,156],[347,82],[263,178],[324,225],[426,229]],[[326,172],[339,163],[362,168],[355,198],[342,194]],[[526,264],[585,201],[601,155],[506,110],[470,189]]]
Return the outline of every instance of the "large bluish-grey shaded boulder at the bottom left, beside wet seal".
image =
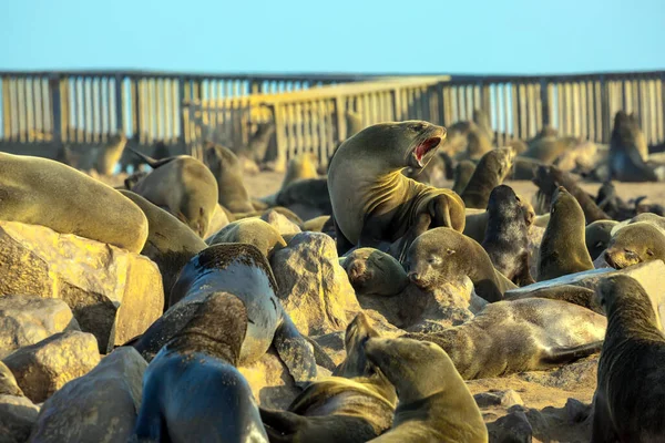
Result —
[[[126,442],[141,408],[145,368],[134,348],[117,348],[45,401],[30,441]]]

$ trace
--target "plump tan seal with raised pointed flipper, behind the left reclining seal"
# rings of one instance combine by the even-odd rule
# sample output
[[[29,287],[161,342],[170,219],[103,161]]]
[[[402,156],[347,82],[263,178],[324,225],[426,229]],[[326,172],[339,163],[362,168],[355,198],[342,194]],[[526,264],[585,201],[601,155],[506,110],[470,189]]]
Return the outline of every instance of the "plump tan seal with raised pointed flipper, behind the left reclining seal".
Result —
[[[203,237],[217,205],[217,181],[211,169],[190,155],[156,161],[133,152],[153,171],[136,183],[132,190],[151,203],[167,208],[178,220]]]

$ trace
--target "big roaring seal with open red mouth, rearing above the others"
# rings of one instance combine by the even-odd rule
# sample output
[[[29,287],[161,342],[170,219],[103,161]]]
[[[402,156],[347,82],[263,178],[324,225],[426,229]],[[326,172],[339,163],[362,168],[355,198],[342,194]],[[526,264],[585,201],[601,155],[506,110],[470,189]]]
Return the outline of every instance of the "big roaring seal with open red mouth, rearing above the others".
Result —
[[[402,175],[424,167],[446,137],[446,128],[422,121],[380,123],[345,141],[332,156],[328,192],[338,254],[351,247],[393,244],[403,260],[411,241],[428,228],[464,229],[464,203]]]

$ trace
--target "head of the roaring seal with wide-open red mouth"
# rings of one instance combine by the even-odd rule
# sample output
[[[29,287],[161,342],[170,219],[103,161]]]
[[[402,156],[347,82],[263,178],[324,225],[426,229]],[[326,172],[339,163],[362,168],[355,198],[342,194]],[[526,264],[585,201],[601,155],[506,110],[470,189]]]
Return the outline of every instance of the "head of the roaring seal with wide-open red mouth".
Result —
[[[348,146],[362,150],[362,155],[385,165],[389,171],[405,167],[422,169],[446,138],[446,128],[424,121],[379,123],[347,138]]]

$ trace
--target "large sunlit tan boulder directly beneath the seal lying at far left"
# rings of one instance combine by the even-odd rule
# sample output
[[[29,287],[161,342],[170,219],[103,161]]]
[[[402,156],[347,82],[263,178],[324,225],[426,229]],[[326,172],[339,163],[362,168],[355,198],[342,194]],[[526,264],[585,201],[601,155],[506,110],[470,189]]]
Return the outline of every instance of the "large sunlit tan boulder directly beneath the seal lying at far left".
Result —
[[[43,226],[0,222],[0,297],[63,300],[100,352],[143,333],[164,307],[162,277],[146,257],[60,235]]]

